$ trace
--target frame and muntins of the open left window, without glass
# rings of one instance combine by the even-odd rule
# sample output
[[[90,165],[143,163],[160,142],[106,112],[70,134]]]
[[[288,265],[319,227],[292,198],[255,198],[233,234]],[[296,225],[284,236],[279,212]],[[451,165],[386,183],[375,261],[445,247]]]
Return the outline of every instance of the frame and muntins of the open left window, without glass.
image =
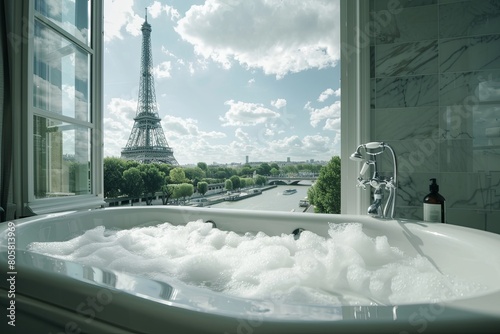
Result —
[[[17,203],[17,216],[47,214],[52,212],[91,209],[105,204],[103,200],[103,131],[102,131],[102,57],[103,57],[103,2],[92,1],[90,45],[74,37],[59,25],[37,13],[34,1],[13,3],[14,12],[22,17],[22,24],[14,25],[14,31],[22,36],[22,57],[13,59],[13,73],[20,73],[20,79],[13,78],[13,85],[19,87],[16,108],[20,114],[14,119],[14,127],[19,130],[17,140],[14,138],[14,197]],[[53,32],[71,41],[90,55],[89,103],[90,119],[88,122],[58,113],[40,112],[33,106],[33,59],[34,59],[34,24],[35,20],[43,23]],[[13,77],[15,77],[13,75]],[[36,198],[34,186],[34,133],[33,118],[42,116],[73,125],[81,125],[91,129],[90,137],[90,193],[53,198]],[[22,204],[20,204],[22,203]]]

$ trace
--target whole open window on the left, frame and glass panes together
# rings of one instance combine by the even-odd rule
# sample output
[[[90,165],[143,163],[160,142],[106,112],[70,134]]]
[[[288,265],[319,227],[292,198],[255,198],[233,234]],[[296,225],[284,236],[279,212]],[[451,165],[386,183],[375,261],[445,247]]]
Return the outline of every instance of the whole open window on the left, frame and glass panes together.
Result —
[[[6,7],[13,14],[7,36],[16,216],[98,207],[104,204],[102,2],[8,1]]]

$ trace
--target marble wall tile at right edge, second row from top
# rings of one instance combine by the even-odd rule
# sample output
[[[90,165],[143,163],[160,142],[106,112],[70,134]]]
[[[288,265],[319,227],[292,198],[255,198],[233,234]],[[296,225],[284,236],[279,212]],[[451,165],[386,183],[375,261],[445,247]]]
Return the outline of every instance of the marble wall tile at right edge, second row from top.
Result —
[[[439,71],[465,72],[500,68],[500,34],[441,39]]]

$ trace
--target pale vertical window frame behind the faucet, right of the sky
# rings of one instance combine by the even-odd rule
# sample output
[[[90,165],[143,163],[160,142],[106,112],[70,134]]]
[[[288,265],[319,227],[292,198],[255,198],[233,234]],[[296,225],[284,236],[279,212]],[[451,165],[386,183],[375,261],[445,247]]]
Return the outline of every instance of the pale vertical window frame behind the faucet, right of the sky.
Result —
[[[370,138],[370,45],[361,36],[369,22],[369,0],[341,0],[341,213],[366,214],[370,191],[356,187],[360,163],[349,159]]]

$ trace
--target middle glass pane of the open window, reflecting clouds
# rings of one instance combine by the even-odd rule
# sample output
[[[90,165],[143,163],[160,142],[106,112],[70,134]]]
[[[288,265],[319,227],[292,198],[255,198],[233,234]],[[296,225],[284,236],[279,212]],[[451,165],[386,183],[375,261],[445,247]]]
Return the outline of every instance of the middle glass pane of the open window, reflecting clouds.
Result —
[[[90,56],[35,21],[33,105],[89,121]]]

